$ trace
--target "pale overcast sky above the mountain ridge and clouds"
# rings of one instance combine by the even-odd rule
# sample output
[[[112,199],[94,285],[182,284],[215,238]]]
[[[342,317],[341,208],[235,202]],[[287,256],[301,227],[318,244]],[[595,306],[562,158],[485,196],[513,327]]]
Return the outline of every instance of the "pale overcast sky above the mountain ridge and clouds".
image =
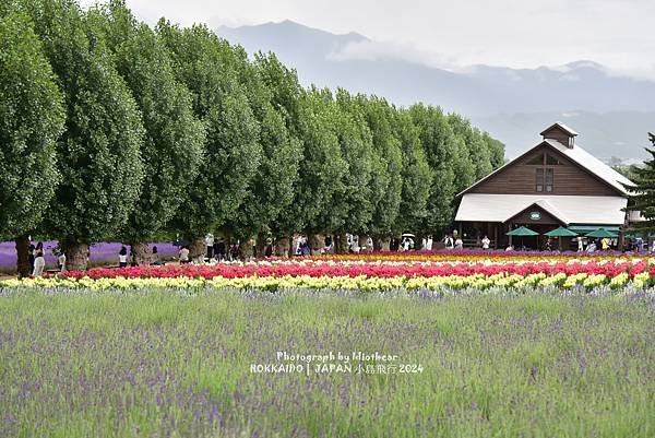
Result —
[[[95,0],[81,0],[82,4]],[[357,32],[392,54],[514,68],[594,60],[655,78],[655,0],[127,0],[150,23],[210,26],[293,20]],[[401,49],[398,49],[401,48]],[[376,46],[380,50],[380,45]]]

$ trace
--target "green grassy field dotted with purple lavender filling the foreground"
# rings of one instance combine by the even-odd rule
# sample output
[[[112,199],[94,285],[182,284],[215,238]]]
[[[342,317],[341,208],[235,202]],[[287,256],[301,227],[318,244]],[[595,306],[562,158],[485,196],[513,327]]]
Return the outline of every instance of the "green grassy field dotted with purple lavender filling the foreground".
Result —
[[[16,291],[0,436],[653,437],[654,321],[616,296]],[[277,352],[398,359],[252,372]]]

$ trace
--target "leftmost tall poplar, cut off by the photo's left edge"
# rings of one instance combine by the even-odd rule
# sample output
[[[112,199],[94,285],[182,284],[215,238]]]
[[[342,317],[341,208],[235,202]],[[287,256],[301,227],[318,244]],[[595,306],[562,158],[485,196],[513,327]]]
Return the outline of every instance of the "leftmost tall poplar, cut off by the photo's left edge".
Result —
[[[63,102],[26,15],[0,16],[0,236],[15,238],[19,273],[26,276],[26,234],[40,224],[59,182]]]

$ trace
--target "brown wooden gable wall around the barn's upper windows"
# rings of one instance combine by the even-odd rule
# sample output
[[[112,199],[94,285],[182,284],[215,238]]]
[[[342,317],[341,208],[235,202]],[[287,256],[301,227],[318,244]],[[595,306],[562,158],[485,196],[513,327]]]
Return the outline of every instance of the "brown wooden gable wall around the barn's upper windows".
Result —
[[[547,152],[557,156],[562,164],[547,166],[555,169],[553,191],[537,192],[535,190],[536,168],[539,166],[526,163]],[[547,145],[536,147],[529,154],[510,164],[504,169],[492,175],[487,180],[468,190],[469,193],[502,193],[502,194],[581,194],[581,196],[617,196],[617,191],[590,174],[565,155]]]

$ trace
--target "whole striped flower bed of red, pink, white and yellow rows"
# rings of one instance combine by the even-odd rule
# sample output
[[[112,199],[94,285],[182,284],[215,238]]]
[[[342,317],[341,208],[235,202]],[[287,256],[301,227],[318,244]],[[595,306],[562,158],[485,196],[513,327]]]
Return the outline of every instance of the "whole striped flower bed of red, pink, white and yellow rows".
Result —
[[[655,259],[489,253],[370,254],[274,259],[247,263],[95,268],[43,279],[5,280],[0,287],[45,288],[312,288],[360,291],[522,289],[621,291],[652,285]]]

